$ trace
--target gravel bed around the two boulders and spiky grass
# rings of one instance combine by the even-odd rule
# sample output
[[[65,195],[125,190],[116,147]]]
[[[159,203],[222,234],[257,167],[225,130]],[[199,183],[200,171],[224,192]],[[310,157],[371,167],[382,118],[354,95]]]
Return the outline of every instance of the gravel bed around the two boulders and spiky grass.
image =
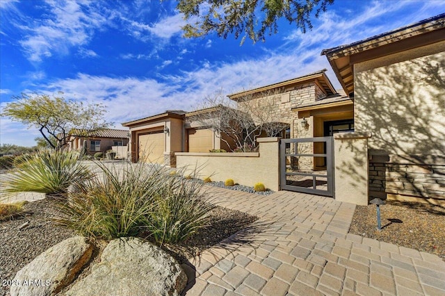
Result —
[[[13,279],[24,265],[40,253],[75,235],[74,231],[58,227],[49,220],[56,212],[53,204],[47,199],[26,204],[24,211],[31,211],[33,214],[20,220],[0,222],[0,281]],[[29,226],[19,230],[27,220],[30,222]],[[204,249],[248,227],[255,220],[257,217],[217,206],[211,211],[209,227],[195,233],[184,243],[177,246],[165,245],[163,249],[172,254],[179,263],[186,263],[187,258],[200,254]],[[99,249],[103,247],[102,244]],[[84,277],[85,273],[88,273],[88,270],[81,276]],[[8,286],[0,283],[0,295],[8,295]]]

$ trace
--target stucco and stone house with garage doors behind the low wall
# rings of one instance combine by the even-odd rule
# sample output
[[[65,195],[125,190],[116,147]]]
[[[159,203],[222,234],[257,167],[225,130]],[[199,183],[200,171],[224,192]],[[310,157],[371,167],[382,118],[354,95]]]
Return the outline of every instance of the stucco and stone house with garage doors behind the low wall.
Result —
[[[238,103],[241,111],[246,104],[267,104],[275,120],[283,122],[286,128],[282,138],[312,137],[323,135],[323,129],[315,129],[313,122],[321,125],[353,119],[353,103],[337,93],[325,75],[325,69],[300,76],[289,81],[266,85],[254,90],[229,94],[229,99]],[[250,101],[250,103],[248,103]],[[313,106],[313,107],[312,107]],[[304,108],[299,115],[293,108]],[[175,166],[175,152],[209,152],[213,149],[234,149],[233,142],[224,135],[209,129],[205,122],[193,120],[200,113],[216,112],[218,107],[185,112],[167,110],[122,126],[131,133],[130,151],[133,161],[145,161]],[[337,114],[332,114],[337,112]],[[302,128],[301,122],[307,122]],[[321,147],[323,149],[323,147]]]

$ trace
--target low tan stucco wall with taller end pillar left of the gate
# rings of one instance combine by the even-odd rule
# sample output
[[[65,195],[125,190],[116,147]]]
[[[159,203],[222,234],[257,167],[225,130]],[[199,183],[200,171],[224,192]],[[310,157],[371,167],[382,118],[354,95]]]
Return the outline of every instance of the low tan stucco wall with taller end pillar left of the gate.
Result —
[[[234,179],[236,183],[280,190],[280,138],[258,138],[259,152],[247,153],[176,153],[177,167],[188,172],[199,169],[200,177],[212,181]]]

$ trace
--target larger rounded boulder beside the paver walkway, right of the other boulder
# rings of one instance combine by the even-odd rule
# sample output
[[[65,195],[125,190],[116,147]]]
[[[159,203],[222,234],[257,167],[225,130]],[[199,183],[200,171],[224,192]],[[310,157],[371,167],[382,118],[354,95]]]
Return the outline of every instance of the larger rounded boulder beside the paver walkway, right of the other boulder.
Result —
[[[66,295],[179,295],[186,283],[184,270],[162,249],[139,238],[120,238]]]

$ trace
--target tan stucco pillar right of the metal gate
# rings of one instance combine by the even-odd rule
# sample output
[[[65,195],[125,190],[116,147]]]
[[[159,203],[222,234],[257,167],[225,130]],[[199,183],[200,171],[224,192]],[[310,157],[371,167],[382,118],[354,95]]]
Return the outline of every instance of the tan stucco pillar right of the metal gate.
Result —
[[[369,133],[334,135],[335,200],[366,206],[368,204]]]

